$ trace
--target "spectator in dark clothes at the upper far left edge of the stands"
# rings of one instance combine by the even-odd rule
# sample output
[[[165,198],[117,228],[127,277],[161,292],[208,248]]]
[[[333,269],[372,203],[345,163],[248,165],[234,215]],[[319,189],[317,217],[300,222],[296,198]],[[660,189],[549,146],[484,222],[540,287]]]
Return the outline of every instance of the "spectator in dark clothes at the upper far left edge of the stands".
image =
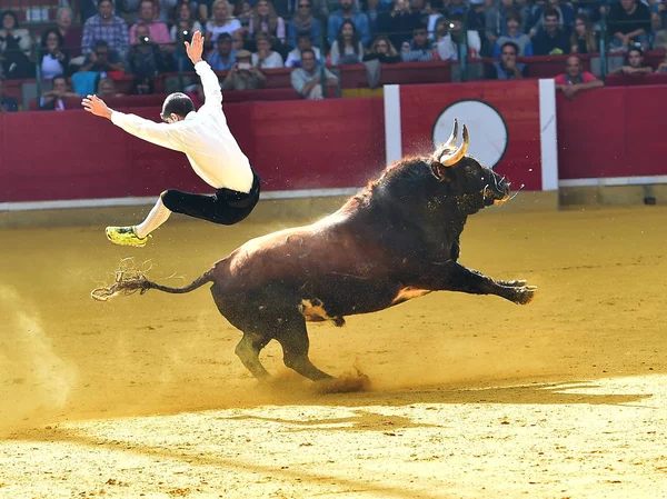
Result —
[[[0,53],[2,54],[2,71],[9,79],[34,77],[32,54],[32,37],[30,32],[19,27],[19,19],[13,10],[2,12],[0,24]]]

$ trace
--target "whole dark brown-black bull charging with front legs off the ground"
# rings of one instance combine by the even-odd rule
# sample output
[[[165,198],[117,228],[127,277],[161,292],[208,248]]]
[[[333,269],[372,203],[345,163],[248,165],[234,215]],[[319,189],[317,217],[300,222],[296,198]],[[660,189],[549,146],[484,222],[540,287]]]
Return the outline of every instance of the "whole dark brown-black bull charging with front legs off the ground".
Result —
[[[458,126],[430,157],[389,166],[337,212],[306,227],[246,242],[183,288],[141,277],[118,291],[190,292],[213,282],[218,309],[243,332],[236,353],[259,379],[259,352],[271,340],[285,365],[313,381],[331,378],[308,358],[307,321],[345,325],[345,316],[384,310],[431,291],[496,295],[528,303],[536,288],[494,280],[457,262],[467,217],[504,202],[509,184],[466,156]]]

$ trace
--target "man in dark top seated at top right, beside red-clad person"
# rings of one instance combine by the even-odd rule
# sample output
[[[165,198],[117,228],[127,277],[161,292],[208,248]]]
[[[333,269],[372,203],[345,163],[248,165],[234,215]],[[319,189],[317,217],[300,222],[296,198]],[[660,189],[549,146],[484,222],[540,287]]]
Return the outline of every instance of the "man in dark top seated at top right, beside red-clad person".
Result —
[[[607,32],[610,43],[618,49],[627,49],[634,43],[648,44],[647,33],[650,31],[650,12],[648,7],[637,0],[619,0],[611,2],[607,14]]]

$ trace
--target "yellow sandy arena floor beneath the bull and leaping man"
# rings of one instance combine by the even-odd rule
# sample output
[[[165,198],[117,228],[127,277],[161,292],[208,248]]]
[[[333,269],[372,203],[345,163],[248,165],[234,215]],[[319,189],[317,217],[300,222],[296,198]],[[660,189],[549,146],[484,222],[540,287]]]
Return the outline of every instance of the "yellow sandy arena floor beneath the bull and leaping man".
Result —
[[[297,222],[175,220],[143,249],[0,231],[0,498],[667,497],[667,209],[487,211],[461,262],[534,302],[441,292],[311,325],[316,365],[370,377],[347,395],[275,343],[259,387],[208,287],[89,297],[121,258],[189,282]]]

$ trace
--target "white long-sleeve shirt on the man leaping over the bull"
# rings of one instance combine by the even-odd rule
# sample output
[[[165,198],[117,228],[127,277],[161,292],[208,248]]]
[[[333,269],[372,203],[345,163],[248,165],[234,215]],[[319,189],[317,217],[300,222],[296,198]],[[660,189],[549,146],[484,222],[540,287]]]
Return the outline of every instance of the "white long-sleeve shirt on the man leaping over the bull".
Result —
[[[227,126],[218,77],[206,61],[195,66],[206,102],[176,123],[156,123],[137,114],[113,111],[111,121],[148,142],[183,152],[195,172],[209,186],[250,192],[252,170]]]

